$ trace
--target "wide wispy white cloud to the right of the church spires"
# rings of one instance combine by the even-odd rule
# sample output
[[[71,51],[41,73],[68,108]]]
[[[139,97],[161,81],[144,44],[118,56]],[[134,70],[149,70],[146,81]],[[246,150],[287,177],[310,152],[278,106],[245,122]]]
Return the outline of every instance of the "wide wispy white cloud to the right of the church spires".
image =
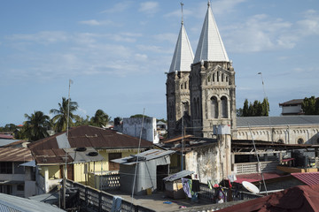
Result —
[[[276,49],[293,49],[300,40],[319,34],[319,14],[309,10],[296,22],[273,19],[257,14],[243,23],[223,27],[223,41],[234,52],[257,52]]]

